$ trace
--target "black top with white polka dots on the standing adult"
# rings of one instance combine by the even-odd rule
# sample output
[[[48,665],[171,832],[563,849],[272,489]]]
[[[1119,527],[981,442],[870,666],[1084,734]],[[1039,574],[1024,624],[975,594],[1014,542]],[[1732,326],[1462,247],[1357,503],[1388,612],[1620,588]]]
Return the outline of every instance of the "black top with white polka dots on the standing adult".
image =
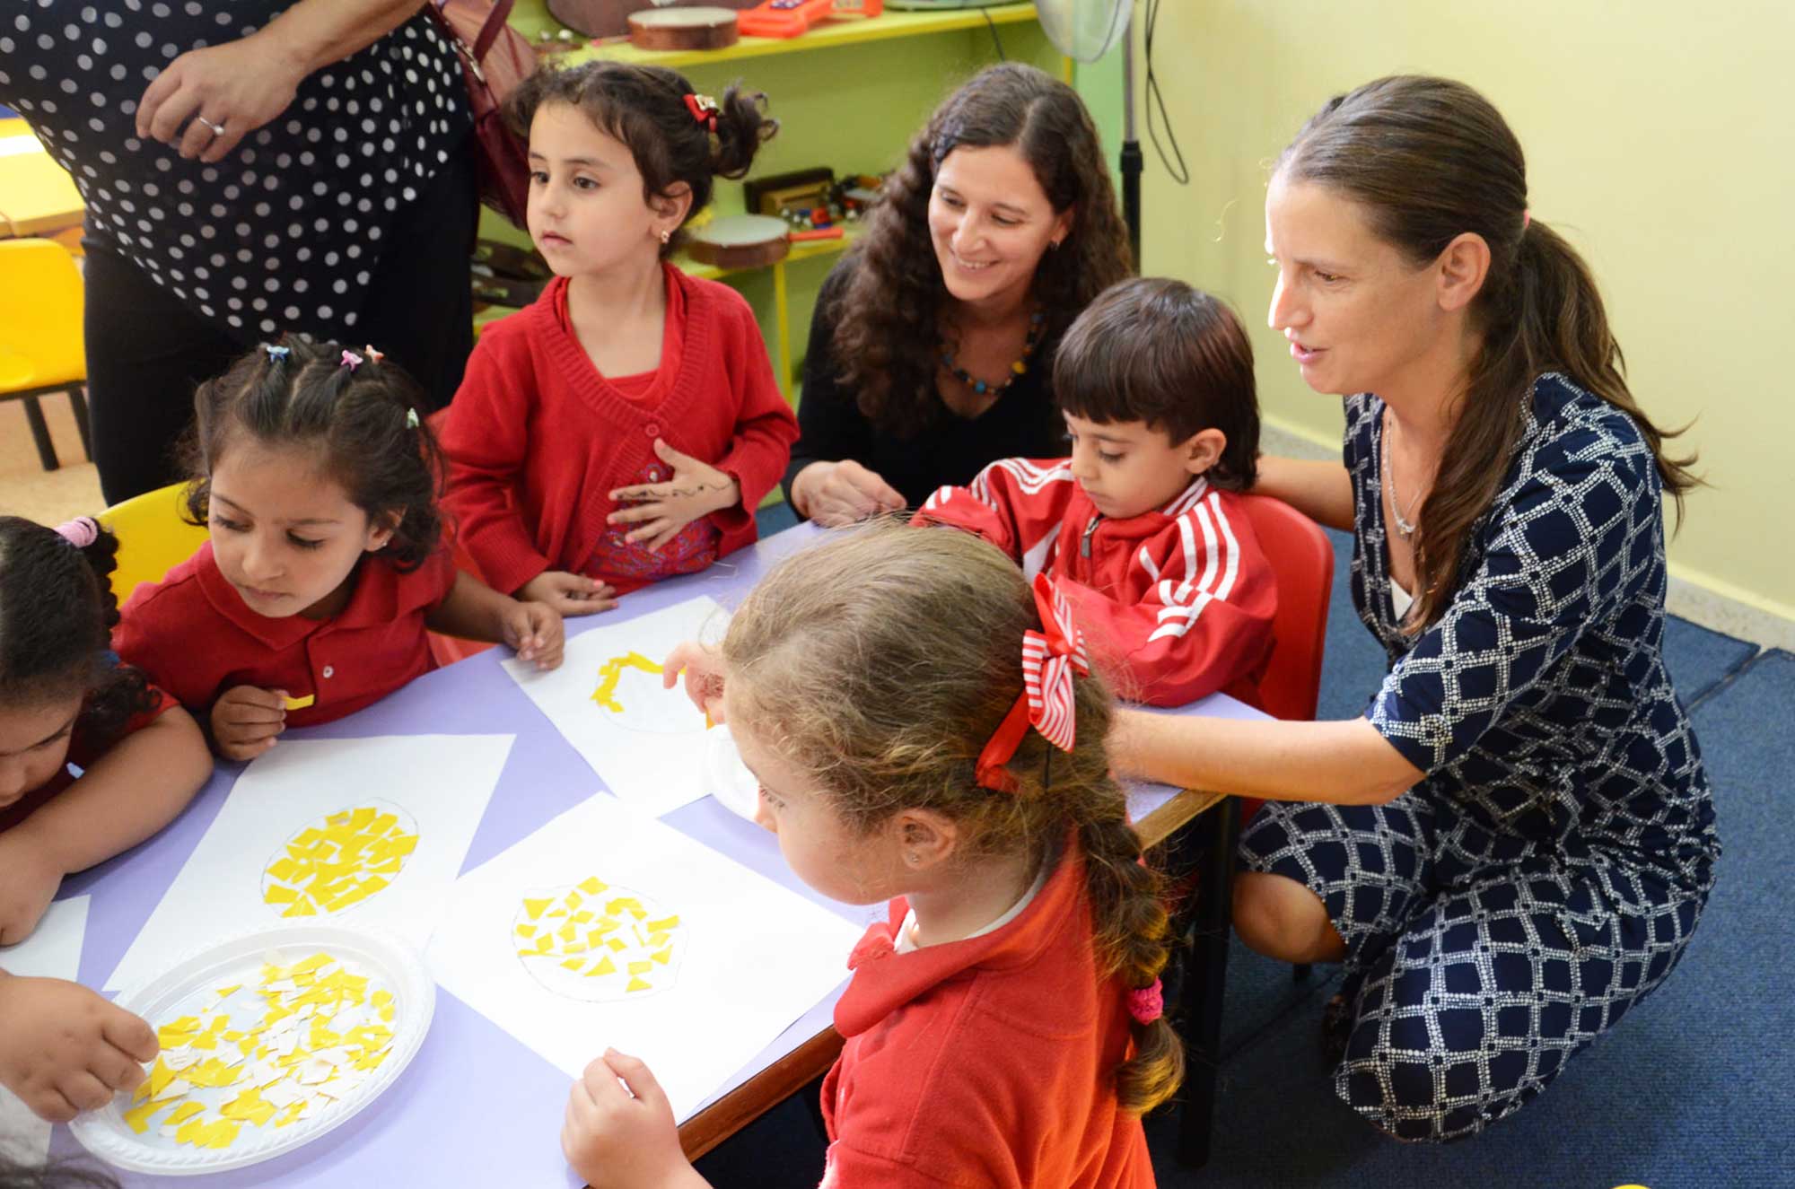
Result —
[[[246,345],[350,339],[375,262],[472,126],[454,47],[420,13],[307,75],[215,165],[136,137],[136,102],[171,61],[287,7],[38,0],[0,18],[0,102],[74,176],[86,235]]]

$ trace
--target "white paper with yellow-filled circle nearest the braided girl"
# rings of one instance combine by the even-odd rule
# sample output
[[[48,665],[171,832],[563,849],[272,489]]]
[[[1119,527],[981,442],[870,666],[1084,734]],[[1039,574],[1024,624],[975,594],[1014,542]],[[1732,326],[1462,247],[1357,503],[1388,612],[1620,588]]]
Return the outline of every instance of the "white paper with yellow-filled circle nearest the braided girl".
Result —
[[[530,948],[517,934],[524,900],[564,903],[549,893],[591,876],[609,885],[585,900],[600,912],[616,889],[628,889],[661,914],[650,921],[679,916],[664,947],[680,948],[668,963],[648,959],[643,972],[652,988],[576,999],[569,982],[583,981],[578,972],[519,956]],[[560,918],[535,923],[542,920]],[[643,1058],[684,1121],[847,977],[860,934],[858,925],[600,796],[465,875],[427,961],[445,991],[571,1078],[607,1047]],[[598,950],[609,952],[603,941]]]

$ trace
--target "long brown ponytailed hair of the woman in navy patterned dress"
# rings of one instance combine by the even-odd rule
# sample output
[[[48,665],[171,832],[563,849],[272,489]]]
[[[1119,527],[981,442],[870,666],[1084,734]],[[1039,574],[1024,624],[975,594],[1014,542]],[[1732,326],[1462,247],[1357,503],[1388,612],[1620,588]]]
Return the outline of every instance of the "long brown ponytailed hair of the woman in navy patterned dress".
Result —
[[[1508,474],[1533,384],[1547,372],[1563,372],[1633,420],[1682,524],[1684,496],[1700,483],[1689,471],[1694,454],[1666,454],[1664,442],[1687,427],[1662,429],[1633,401],[1596,278],[1529,214],[1520,142],[1488,99],[1452,79],[1366,83],[1310,117],[1274,172],[1352,199],[1379,239],[1416,264],[1436,260],[1467,232],[1490,248],[1472,305],[1483,345],[1416,523],[1418,591],[1405,630],[1445,614],[1470,528]]]

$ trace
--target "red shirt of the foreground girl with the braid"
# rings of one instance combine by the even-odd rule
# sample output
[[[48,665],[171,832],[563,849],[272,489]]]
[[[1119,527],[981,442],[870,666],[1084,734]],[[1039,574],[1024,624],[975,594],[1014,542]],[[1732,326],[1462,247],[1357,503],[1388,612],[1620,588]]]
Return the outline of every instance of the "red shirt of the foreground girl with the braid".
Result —
[[[824,1187],[1151,1189],[1147,1137],[1115,1094],[1127,995],[1099,981],[1077,848],[980,938],[896,954],[905,912],[894,900],[854,947],[835,1006]]]

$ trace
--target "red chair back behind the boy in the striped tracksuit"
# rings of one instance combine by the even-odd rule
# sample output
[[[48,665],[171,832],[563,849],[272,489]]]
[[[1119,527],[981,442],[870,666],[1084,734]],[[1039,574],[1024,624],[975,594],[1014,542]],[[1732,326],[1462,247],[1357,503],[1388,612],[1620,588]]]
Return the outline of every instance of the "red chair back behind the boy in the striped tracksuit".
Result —
[[[1334,546],[1319,524],[1282,499],[1244,496],[1240,503],[1278,575],[1274,643],[1258,683],[1260,704],[1274,718],[1314,718],[1334,593]]]

